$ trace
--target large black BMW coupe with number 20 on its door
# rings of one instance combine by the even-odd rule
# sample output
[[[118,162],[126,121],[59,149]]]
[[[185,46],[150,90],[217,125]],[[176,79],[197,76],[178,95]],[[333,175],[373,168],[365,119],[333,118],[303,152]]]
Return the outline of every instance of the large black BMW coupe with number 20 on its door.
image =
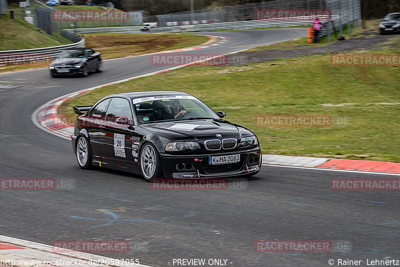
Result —
[[[251,176],[261,167],[253,132],[186,93],[122,93],[73,109],[72,147],[82,169],[122,169],[150,181]]]

